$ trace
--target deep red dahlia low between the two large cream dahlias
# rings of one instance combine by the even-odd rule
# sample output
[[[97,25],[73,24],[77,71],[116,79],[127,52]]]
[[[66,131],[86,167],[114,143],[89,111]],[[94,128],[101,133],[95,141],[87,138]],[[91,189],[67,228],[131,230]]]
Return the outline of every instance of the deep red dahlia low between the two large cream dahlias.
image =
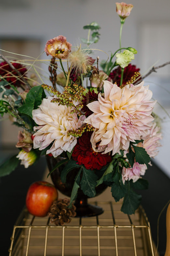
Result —
[[[78,138],[78,142],[73,150],[73,160],[78,162],[79,165],[84,164],[86,169],[97,169],[100,170],[107,163],[111,162],[111,156],[95,152],[92,149],[90,142],[92,132],[85,132],[81,137]]]

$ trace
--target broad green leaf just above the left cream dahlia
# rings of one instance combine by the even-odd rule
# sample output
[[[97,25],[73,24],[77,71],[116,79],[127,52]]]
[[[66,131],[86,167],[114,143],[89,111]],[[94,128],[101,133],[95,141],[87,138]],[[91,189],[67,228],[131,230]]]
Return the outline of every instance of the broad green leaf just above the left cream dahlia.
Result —
[[[34,109],[37,109],[42,102],[42,92],[43,88],[41,87],[41,85],[34,86],[27,94],[25,103],[27,104],[30,102],[34,102]]]

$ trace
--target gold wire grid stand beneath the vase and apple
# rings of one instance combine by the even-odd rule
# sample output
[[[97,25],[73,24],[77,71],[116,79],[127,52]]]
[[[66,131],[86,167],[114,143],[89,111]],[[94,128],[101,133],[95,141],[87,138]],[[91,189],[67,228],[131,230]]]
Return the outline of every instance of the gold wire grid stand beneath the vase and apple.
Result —
[[[72,218],[67,226],[24,209],[14,226],[9,256],[154,256],[148,218],[140,206],[135,214],[120,211],[122,202],[94,202],[105,212]]]

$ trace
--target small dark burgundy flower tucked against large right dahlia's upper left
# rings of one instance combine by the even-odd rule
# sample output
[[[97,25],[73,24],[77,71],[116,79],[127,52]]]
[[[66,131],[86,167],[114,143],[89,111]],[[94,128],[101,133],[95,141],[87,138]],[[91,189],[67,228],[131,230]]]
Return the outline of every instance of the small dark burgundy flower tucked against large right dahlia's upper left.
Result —
[[[81,109],[81,111],[85,113],[86,117],[88,117],[93,113],[86,105],[89,104],[90,102],[98,100],[98,94],[96,94],[94,90],[92,90],[92,92],[89,91],[85,96],[83,95],[83,100],[82,100],[83,108]]]

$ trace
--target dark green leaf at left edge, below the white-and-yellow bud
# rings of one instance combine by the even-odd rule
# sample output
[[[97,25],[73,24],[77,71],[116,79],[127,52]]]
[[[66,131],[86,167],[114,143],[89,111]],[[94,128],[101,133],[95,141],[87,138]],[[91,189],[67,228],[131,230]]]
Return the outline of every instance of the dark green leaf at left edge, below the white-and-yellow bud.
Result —
[[[17,155],[11,157],[9,160],[7,160],[6,162],[4,162],[1,166],[0,166],[0,177],[9,175],[12,171],[15,170],[15,168],[18,166],[19,164],[19,159],[16,158]]]

